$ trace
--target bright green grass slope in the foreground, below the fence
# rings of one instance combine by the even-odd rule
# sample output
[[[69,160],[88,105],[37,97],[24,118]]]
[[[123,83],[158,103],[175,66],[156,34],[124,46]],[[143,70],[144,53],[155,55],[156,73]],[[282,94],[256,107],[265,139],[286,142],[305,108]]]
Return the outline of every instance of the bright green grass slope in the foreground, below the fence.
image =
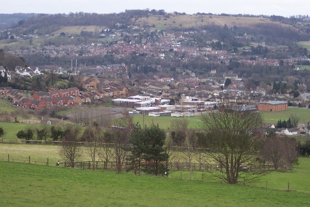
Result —
[[[309,193],[0,161],[1,206],[309,206]]]

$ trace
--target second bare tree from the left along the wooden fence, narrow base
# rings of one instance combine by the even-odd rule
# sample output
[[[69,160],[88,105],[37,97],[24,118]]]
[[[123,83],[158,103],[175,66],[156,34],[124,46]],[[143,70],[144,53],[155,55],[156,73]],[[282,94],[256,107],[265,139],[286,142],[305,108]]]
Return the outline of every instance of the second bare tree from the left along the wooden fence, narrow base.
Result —
[[[84,131],[83,139],[86,141],[86,147],[88,153],[92,158],[93,170],[95,170],[95,161],[100,147],[102,146],[100,142],[102,141],[103,132],[100,127],[88,127]]]

